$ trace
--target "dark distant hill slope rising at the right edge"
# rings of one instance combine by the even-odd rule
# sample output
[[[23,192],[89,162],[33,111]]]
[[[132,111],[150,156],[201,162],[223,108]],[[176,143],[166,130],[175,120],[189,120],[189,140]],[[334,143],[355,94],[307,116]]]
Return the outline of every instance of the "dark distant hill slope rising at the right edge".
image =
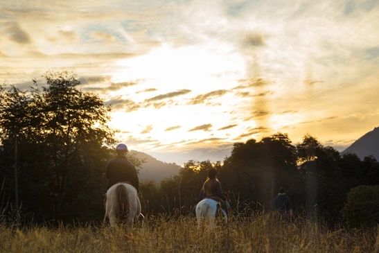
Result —
[[[347,152],[355,153],[360,159],[373,155],[379,160],[379,127],[374,128],[371,132],[367,132],[367,134],[354,141],[349,148],[341,152],[341,155]]]

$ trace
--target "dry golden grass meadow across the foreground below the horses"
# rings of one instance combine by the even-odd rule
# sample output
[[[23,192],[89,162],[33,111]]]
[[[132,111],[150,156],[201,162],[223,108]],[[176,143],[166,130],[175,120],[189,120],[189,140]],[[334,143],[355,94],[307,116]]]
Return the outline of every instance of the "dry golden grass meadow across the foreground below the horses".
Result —
[[[285,224],[270,216],[229,216],[213,231],[194,216],[150,216],[125,227],[86,225],[0,225],[1,252],[379,252],[379,227],[328,228],[297,218]]]

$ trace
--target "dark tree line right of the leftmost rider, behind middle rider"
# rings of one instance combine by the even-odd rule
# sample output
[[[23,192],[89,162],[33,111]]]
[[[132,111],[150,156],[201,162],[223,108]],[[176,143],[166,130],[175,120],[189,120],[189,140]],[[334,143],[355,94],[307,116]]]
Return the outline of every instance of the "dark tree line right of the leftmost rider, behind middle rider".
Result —
[[[331,223],[348,218],[355,223],[354,218],[362,217],[371,219],[371,225],[379,222],[379,163],[375,157],[361,160],[351,153],[340,155],[309,134],[297,145],[282,133],[234,143],[230,157],[222,163],[187,162],[178,175],[161,182],[161,193],[171,200],[167,206],[191,211],[209,168],[218,170],[222,189],[233,193],[232,206],[238,207],[238,213],[272,211],[272,200],[283,187],[298,214],[323,217]]]

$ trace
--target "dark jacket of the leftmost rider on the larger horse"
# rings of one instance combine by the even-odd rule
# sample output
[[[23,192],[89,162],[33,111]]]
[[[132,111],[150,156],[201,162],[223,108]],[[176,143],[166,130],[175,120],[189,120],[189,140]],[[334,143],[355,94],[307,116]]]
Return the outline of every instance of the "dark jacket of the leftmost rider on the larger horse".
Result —
[[[139,179],[134,165],[123,156],[109,160],[105,172],[109,189],[112,185],[119,182],[129,182],[139,192]]]

